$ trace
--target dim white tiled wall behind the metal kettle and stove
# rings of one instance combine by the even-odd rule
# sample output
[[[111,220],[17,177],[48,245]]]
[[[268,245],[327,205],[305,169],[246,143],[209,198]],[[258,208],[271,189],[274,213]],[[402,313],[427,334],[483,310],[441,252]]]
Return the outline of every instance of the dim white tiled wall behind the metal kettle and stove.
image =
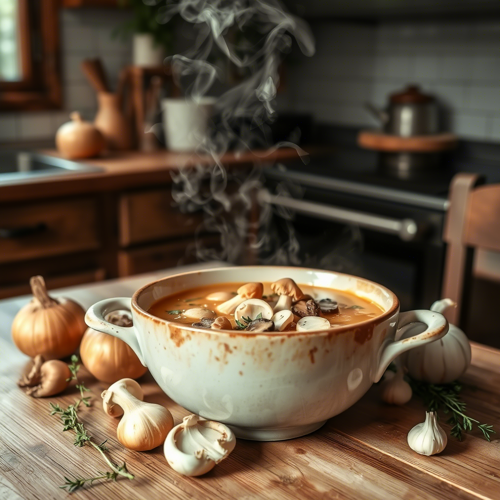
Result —
[[[301,111],[329,123],[374,126],[363,102],[384,106],[390,93],[417,83],[447,110],[451,131],[500,140],[500,21],[382,21],[362,29],[318,24],[318,30],[311,26],[320,33],[316,55],[295,66],[288,80],[291,102]],[[362,43],[349,47],[360,33]]]

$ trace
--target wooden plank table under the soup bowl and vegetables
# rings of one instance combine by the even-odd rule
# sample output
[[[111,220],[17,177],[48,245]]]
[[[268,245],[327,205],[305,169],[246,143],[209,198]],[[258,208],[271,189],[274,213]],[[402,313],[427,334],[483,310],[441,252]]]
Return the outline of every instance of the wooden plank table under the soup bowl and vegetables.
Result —
[[[86,307],[104,297],[130,295],[153,277],[67,288],[63,294]],[[64,475],[89,476],[106,468],[93,448],[73,446],[72,431],[61,432],[58,417],[49,415],[49,401],[74,401],[73,386],[60,396],[34,399],[15,383],[27,358],[11,343],[9,330],[25,301],[0,301],[0,498],[65,498],[68,493],[57,487]],[[189,478],[168,466],[161,447],[142,453],[124,449],[116,440],[117,421],[101,409],[98,394],[106,384],[82,375],[95,404],[80,411],[81,420],[96,440],[109,437],[112,459],[125,460],[135,479],[94,483],[72,493],[74,498],[500,498],[497,439],[489,443],[475,432],[462,441],[448,437],[441,454],[418,455],[409,449],[406,435],[424,420],[424,407],[416,398],[402,407],[385,405],[376,386],[312,434],[279,442],[239,439],[226,460],[204,476]],[[470,415],[500,430],[500,351],[474,344],[472,365],[462,379],[477,387],[463,391]],[[148,375],[139,381],[145,399],[168,407],[175,423],[187,414]]]

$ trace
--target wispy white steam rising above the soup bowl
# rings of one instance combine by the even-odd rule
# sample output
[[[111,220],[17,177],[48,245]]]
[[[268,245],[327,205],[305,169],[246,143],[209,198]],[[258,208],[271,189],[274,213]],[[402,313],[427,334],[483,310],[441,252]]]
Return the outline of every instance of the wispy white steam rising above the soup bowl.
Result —
[[[147,0],[146,2],[155,1]],[[230,176],[237,189],[228,186],[229,177],[221,163],[230,148],[234,154],[265,149],[267,153],[281,146],[293,146],[301,157],[305,152],[292,143],[270,147],[268,123],[275,117],[274,99],[279,86],[278,66],[283,54],[290,51],[292,39],[305,55],[314,53],[314,41],[307,24],[285,12],[275,0],[180,0],[166,4],[158,14],[159,22],[167,22],[180,14],[196,31],[193,46],[183,54],[169,58],[176,83],[184,88],[186,99],[199,101],[213,90],[214,83],[223,83],[230,71],[213,62],[221,54],[244,77],[223,92],[215,104],[212,130],[208,136],[197,137],[196,154],[211,158],[211,166],[199,161],[194,166],[181,166],[172,174],[172,196],[184,211],[202,208],[204,223],[197,230],[220,234],[222,249],[204,247],[196,237],[198,259],[238,261],[248,246],[262,248],[276,263],[299,263],[298,241],[289,222],[292,215],[276,209],[287,224],[288,241],[274,248],[277,241],[272,224],[272,208],[262,204],[258,217],[248,222],[252,200],[261,188],[260,168],[253,165],[244,173],[240,168]],[[208,183],[208,188],[205,187]],[[288,189],[278,186],[280,194]]]

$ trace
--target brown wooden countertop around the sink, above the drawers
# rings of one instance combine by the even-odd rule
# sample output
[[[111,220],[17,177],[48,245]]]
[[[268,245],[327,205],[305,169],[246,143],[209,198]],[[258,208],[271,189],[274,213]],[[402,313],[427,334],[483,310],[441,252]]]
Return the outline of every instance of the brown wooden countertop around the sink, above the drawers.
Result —
[[[54,149],[41,153],[60,157]],[[241,154],[225,153],[224,166],[252,164],[259,161],[276,161],[298,158],[294,148],[254,150]],[[135,188],[155,183],[169,183],[170,171],[180,166],[195,163],[211,164],[209,156],[178,153],[166,150],[151,152],[113,151],[109,156],[87,158],[82,163],[97,166],[101,171],[88,173],[65,173],[0,186],[0,202],[33,198],[47,198],[119,189]]]

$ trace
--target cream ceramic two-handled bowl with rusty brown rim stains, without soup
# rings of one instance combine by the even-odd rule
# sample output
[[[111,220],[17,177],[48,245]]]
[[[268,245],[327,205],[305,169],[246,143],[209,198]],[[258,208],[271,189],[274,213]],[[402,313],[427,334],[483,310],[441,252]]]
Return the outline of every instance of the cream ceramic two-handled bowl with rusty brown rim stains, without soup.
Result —
[[[147,312],[159,298],[198,285],[282,277],[298,285],[349,291],[376,303],[382,312],[329,330],[257,334],[196,328]],[[120,309],[131,310],[133,326],[104,319]],[[95,303],[85,321],[125,341],[175,402],[229,425],[237,437],[257,440],[288,439],[319,428],[354,404],[397,355],[448,330],[438,312],[400,313],[397,297],[366,279],[281,266],[222,267],[168,276],[140,288],[131,299]],[[425,331],[399,340],[399,330],[413,322],[424,323]]]

